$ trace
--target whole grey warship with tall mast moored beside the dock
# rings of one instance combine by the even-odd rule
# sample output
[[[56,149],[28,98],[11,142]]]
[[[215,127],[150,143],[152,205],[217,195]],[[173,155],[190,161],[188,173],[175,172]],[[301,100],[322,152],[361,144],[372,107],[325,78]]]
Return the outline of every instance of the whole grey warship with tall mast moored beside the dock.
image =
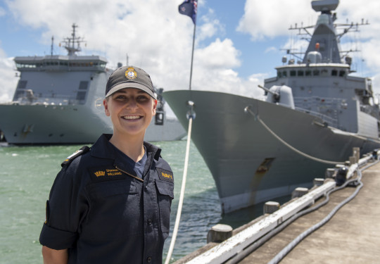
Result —
[[[348,161],[354,147],[360,153],[379,148],[379,105],[372,81],[353,76],[352,58],[341,52],[341,37],[361,24],[337,24],[338,3],[312,1],[319,13],[316,25],[291,28],[314,29],[308,49],[297,63],[282,59],[277,76],[264,81],[265,99],[164,92],[184,127],[186,102],[194,103],[191,139],[213,175],[222,212],[312,187],[327,168]]]

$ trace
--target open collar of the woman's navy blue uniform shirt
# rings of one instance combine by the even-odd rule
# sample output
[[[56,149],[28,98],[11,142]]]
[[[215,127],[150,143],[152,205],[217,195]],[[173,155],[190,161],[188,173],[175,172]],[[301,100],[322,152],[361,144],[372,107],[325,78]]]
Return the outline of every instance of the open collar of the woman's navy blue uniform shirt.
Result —
[[[95,156],[98,158],[110,158],[115,160],[117,157],[117,153],[115,153],[115,149],[110,145],[110,138],[112,134],[102,134],[101,137],[95,142],[94,145],[91,146],[91,156]],[[150,153],[154,156],[156,161],[160,158],[161,149],[153,144],[148,142],[144,142],[144,146],[146,148],[146,154]]]

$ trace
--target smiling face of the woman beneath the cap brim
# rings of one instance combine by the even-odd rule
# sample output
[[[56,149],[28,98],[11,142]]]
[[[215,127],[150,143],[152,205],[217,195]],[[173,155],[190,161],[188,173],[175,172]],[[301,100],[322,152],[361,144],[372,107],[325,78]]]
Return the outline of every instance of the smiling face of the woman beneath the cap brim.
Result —
[[[121,89],[103,101],[106,115],[113,123],[113,133],[143,136],[156,115],[157,100],[136,88]]]

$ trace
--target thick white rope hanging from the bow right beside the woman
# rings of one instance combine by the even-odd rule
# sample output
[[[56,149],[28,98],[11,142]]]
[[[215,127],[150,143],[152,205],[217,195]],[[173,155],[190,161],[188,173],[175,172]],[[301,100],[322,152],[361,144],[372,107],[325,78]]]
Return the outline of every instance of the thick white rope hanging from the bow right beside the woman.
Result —
[[[185,162],[184,162],[184,175],[182,177],[181,194],[179,194],[177,217],[175,218],[175,227],[173,230],[172,240],[170,241],[169,251],[167,251],[165,264],[168,264],[170,262],[170,258],[172,257],[173,249],[175,246],[175,239],[177,238],[179,220],[181,219],[182,204],[184,203],[184,191],[185,191],[186,177],[187,177],[187,166],[189,163],[189,150],[190,150],[191,125],[192,125],[192,123],[193,123],[193,118],[191,117],[191,118],[189,118],[189,130],[187,132],[186,155],[185,155]]]

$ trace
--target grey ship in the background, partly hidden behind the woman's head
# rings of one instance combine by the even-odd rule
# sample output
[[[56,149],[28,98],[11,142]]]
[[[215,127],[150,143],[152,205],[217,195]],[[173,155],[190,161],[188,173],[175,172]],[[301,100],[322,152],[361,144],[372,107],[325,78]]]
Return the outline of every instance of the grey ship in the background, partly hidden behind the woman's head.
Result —
[[[18,56],[20,72],[13,100],[0,104],[1,141],[8,144],[87,144],[102,133],[113,133],[103,110],[103,97],[110,70],[101,56],[79,56],[77,25],[64,39],[67,56]],[[118,66],[121,66],[119,63]],[[175,118],[165,115],[163,89],[156,89],[156,117],[146,130],[150,142],[182,139],[186,132]],[[97,106],[96,106],[97,105]]]

